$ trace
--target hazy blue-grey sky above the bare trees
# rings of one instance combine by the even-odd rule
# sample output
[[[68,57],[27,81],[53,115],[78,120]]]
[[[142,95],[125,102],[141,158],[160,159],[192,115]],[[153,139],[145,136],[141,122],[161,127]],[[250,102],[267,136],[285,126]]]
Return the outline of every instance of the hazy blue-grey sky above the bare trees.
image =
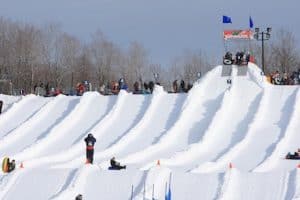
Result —
[[[224,28],[285,28],[300,41],[297,0],[0,0],[0,15],[42,25],[60,23],[64,31],[88,41],[96,30],[126,48],[138,41],[154,63],[168,64],[183,50],[220,56]],[[233,24],[223,25],[222,15]],[[299,45],[298,45],[299,46]]]

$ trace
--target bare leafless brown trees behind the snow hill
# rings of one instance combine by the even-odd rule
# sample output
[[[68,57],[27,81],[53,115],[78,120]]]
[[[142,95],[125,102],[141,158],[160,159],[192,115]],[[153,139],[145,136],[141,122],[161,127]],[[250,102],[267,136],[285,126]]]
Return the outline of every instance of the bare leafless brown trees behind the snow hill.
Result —
[[[260,45],[251,48],[260,63]],[[265,55],[268,72],[290,72],[300,66],[295,37],[285,30],[266,43]],[[221,59],[204,51],[186,50],[169,67],[162,67],[152,63],[147,49],[136,41],[122,49],[101,31],[93,33],[89,42],[82,42],[62,31],[59,24],[35,26],[0,18],[0,83],[8,81],[14,90],[27,93],[40,83],[67,91],[84,80],[99,88],[121,77],[133,88],[136,81],[154,80],[154,74],[161,85],[172,87],[176,79],[194,82]]]

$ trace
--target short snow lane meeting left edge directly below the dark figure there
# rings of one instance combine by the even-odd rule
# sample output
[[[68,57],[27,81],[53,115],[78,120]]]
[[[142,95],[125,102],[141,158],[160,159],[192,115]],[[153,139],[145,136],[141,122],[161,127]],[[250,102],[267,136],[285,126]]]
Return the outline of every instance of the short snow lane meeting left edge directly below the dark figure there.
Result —
[[[6,136],[9,132],[30,119],[50,99],[27,95],[18,103],[15,103],[7,112],[0,115],[0,138]]]

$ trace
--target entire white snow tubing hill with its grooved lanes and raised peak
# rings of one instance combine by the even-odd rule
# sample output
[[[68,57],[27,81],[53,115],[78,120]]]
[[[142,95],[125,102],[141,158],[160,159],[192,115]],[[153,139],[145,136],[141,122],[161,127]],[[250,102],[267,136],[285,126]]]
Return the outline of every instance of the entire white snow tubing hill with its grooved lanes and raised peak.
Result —
[[[172,200],[300,199],[299,161],[283,159],[300,148],[299,86],[271,85],[251,63],[237,72],[217,66],[188,94],[0,95],[0,159],[17,162],[0,199],[164,200],[169,186]],[[113,156],[127,169],[107,170]]]

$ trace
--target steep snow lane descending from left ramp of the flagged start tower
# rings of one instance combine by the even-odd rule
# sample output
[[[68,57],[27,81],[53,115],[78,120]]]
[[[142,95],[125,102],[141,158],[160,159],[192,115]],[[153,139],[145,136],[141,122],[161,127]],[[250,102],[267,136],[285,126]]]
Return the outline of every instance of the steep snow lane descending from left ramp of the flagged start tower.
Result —
[[[185,149],[203,134],[214,113],[218,110],[224,92],[228,88],[226,78],[221,77],[221,66],[209,72],[199,84],[195,84],[187,96],[178,120],[160,140],[146,149],[124,158],[125,163],[142,163],[170,156]],[[211,88],[208,90],[208,88]],[[159,117],[160,113],[157,113]],[[150,163],[149,166],[152,166]]]

